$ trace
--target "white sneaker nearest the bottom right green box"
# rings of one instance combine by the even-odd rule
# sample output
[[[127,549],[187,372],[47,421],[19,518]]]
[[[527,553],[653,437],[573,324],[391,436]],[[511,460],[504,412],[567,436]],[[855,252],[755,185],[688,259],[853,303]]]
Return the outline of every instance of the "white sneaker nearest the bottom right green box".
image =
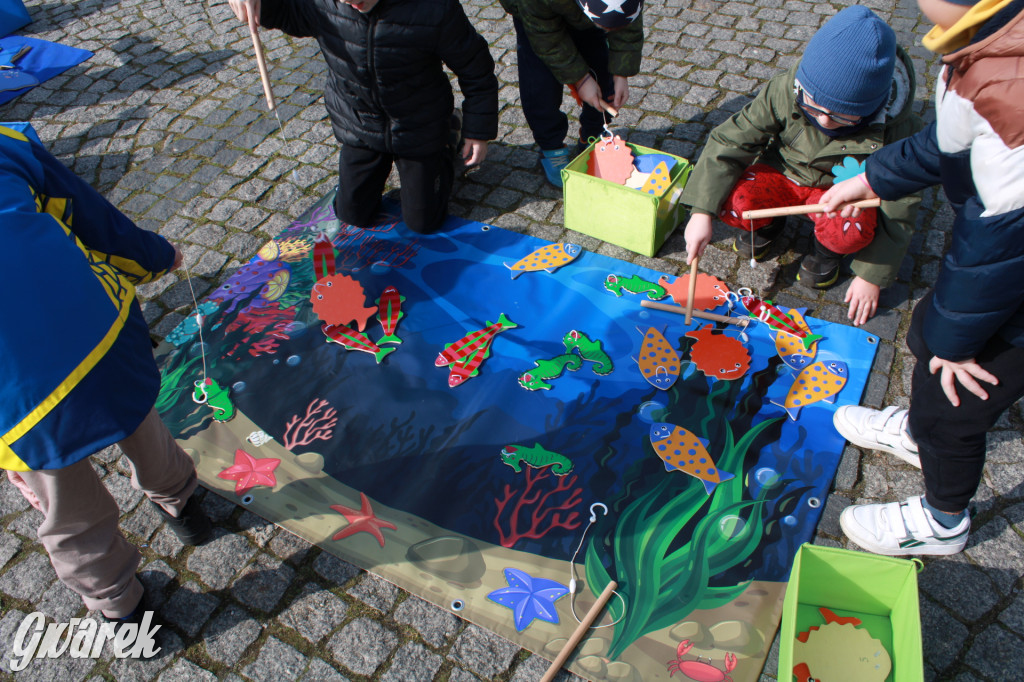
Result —
[[[887,505],[853,505],[839,517],[843,532],[868,552],[903,556],[906,554],[956,554],[967,545],[971,516],[953,528],[935,521],[921,504],[921,496]]]

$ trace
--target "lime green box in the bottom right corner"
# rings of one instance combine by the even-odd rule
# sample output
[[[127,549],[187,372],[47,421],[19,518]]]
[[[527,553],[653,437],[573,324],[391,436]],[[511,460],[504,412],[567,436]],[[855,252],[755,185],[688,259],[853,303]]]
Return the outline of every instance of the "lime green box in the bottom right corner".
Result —
[[[886,680],[924,679],[921,613],[918,608],[920,560],[897,559],[835,547],[804,544],[797,552],[782,600],[778,679],[794,680],[797,635],[824,621],[818,608],[861,620],[858,628],[880,640],[892,658]],[[812,671],[813,674],[813,671]],[[850,679],[858,679],[851,671]]]

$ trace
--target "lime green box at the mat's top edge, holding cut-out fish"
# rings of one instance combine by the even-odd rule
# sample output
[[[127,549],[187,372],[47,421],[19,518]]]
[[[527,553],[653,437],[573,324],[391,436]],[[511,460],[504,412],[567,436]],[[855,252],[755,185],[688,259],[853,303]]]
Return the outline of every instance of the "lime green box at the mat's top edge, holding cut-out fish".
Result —
[[[666,154],[676,160],[669,171],[672,179],[668,188],[660,197],[653,197],[589,175],[587,161],[596,143],[592,142],[562,169],[565,226],[602,242],[653,256],[686,212],[679,199],[692,164],[659,150],[630,144],[634,155]]]

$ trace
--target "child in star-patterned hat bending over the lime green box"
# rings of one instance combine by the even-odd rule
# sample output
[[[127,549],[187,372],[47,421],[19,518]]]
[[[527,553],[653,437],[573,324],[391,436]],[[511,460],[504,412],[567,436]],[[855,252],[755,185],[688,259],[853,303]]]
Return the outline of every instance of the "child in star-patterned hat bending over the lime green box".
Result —
[[[548,181],[604,130],[605,111],[629,99],[629,78],[640,71],[643,0],[501,0],[515,27],[522,113],[541,147]],[[580,141],[565,145],[565,85],[583,102]]]

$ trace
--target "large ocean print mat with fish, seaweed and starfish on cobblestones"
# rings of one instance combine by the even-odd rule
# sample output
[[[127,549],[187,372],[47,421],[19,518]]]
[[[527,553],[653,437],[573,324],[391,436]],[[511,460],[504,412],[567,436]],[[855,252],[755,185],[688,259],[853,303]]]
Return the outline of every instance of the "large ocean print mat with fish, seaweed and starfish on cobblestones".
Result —
[[[727,283],[698,300],[762,322],[686,326],[641,305],[683,279],[332,204],[158,349],[203,484],[548,658],[615,581],[587,679],[757,680],[878,339]]]

